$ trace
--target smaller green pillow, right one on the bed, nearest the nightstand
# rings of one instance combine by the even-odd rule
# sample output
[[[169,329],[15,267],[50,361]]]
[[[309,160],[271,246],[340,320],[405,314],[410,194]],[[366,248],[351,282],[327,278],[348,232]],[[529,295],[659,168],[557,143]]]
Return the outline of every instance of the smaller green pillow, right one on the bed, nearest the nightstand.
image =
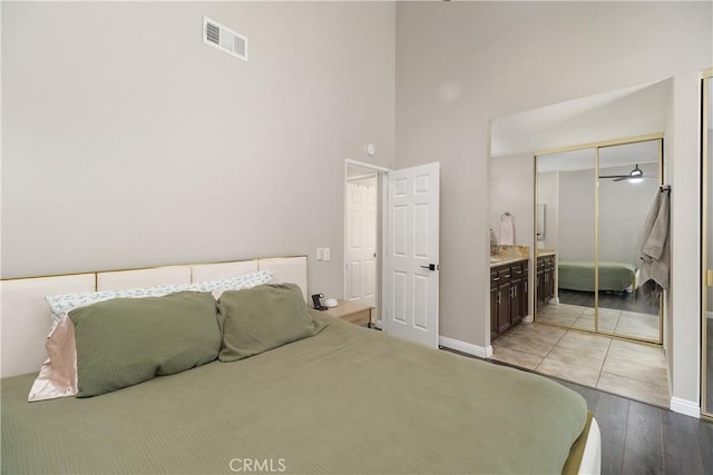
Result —
[[[321,331],[295,284],[225,291],[218,300],[221,362],[235,362]]]

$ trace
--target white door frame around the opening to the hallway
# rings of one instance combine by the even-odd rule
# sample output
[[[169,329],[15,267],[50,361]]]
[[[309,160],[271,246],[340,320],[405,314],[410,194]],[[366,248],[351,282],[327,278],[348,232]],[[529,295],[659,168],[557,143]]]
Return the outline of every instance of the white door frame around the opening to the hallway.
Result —
[[[387,214],[384,212],[384,204],[385,204],[385,199],[387,199],[387,180],[384,179],[384,176],[387,174],[389,174],[389,171],[391,171],[390,168],[385,168],[385,167],[380,167],[378,165],[373,165],[373,164],[367,164],[364,161],[358,161],[358,160],[353,160],[351,158],[346,158],[344,159],[344,179],[342,180],[342,184],[344,186],[344,192],[342,195],[344,202],[343,202],[343,216],[342,216],[342,225],[343,225],[343,229],[342,229],[342,247],[343,247],[343,253],[342,255],[343,257],[343,261],[342,261],[342,276],[343,276],[343,295],[344,297],[346,297],[348,295],[348,288],[346,288],[346,219],[349,218],[348,215],[348,198],[346,198],[346,192],[348,192],[348,187],[346,184],[349,182],[349,168],[361,168],[363,170],[365,170],[367,172],[370,174],[377,174],[377,195],[379,197],[378,202],[377,202],[377,216],[381,215],[381,220],[379,220],[379,218],[377,218],[377,224],[378,229],[377,229],[377,288],[375,288],[375,297],[374,297],[374,324],[377,323],[381,323],[381,325],[385,324],[385,320],[383,318],[381,318],[381,308],[383,306],[382,304],[382,297],[383,297],[383,273],[384,273],[384,268],[383,268],[383,234],[387,229]],[[378,325],[377,325],[378,326]]]

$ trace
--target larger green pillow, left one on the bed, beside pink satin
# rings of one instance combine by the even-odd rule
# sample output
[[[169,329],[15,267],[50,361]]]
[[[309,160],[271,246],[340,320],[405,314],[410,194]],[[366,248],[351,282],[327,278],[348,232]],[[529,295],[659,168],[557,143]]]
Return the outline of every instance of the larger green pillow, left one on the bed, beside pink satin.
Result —
[[[217,305],[208,293],[115,298],[69,313],[77,397],[96,396],[217,358]]]

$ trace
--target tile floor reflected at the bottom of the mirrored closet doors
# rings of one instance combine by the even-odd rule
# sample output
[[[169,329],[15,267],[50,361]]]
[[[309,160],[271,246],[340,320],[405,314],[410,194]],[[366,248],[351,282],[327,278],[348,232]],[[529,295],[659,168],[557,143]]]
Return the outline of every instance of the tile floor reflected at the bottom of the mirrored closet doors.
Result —
[[[593,331],[594,308],[568,304],[541,305],[537,308],[537,320]],[[599,308],[599,329],[653,342],[660,338],[658,315]]]

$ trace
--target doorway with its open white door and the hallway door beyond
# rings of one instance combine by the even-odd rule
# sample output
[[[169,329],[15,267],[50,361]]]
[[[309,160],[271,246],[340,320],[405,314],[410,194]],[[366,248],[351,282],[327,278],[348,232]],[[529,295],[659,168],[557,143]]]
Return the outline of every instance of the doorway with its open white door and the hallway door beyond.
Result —
[[[344,299],[372,306],[377,328],[430,347],[439,342],[439,200],[438,162],[390,170],[345,160]]]

